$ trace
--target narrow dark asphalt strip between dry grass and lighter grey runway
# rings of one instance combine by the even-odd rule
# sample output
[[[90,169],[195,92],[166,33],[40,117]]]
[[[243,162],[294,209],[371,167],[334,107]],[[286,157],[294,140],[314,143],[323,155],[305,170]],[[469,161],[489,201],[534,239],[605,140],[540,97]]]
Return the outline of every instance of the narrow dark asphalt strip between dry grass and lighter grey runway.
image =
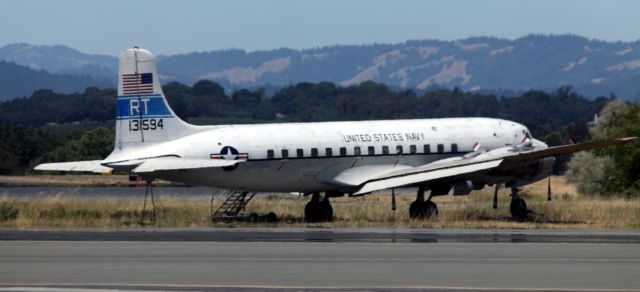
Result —
[[[609,230],[369,228],[119,228],[111,230],[18,230],[0,228],[0,241],[1,240],[640,244],[640,232]]]

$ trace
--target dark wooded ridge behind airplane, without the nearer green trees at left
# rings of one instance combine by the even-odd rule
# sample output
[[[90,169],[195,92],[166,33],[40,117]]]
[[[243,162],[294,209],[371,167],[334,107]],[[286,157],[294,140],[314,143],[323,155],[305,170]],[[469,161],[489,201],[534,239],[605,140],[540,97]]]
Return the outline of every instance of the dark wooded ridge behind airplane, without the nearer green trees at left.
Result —
[[[271,96],[262,89],[227,94],[208,80],[193,86],[172,82],[163,89],[176,114],[194,123],[496,117],[521,122],[539,137],[558,131],[574,139],[582,138],[579,136],[585,132],[585,123],[611,100],[589,100],[569,87],[505,98],[457,89],[417,94],[411,90],[394,91],[374,82],[351,87],[328,82],[300,83]],[[0,103],[0,122],[39,127],[111,121],[115,117],[115,95],[113,89],[93,87],[75,94],[39,90],[31,97]]]

